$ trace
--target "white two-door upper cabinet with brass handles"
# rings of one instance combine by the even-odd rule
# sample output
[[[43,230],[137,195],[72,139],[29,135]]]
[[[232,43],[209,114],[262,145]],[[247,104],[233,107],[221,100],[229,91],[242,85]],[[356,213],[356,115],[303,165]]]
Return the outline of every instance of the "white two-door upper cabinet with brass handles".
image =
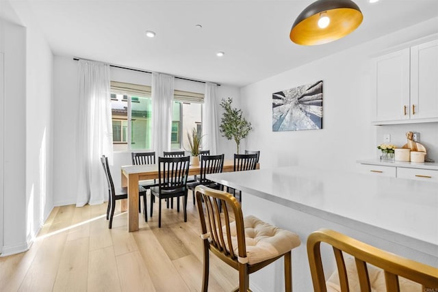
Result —
[[[373,124],[438,121],[438,40],[374,59]]]

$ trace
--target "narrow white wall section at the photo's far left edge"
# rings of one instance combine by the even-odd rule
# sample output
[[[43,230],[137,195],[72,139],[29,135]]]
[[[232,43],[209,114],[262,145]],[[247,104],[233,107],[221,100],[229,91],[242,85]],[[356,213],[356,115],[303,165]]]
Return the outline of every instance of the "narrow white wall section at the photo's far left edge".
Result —
[[[5,61],[3,255],[27,249],[26,242],[26,31],[0,19]]]

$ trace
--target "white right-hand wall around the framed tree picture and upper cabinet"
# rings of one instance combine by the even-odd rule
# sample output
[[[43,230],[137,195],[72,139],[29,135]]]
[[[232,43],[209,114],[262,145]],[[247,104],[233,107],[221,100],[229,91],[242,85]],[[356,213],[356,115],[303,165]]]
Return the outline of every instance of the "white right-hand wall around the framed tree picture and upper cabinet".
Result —
[[[377,135],[377,127],[371,125],[372,57],[437,31],[438,18],[433,18],[242,88],[242,108],[254,126],[246,141],[247,148],[261,150],[262,168],[307,165],[356,170],[355,161],[375,158],[376,146],[383,142]],[[272,132],[272,93],[318,80],[324,81],[323,129]],[[396,131],[396,127],[383,127],[379,133],[394,133],[394,139],[404,131],[404,128]],[[437,124],[432,127],[437,129]],[[436,153],[436,137],[426,134],[430,133],[426,130],[429,126],[416,124],[406,128],[424,132],[422,141],[427,141]]]

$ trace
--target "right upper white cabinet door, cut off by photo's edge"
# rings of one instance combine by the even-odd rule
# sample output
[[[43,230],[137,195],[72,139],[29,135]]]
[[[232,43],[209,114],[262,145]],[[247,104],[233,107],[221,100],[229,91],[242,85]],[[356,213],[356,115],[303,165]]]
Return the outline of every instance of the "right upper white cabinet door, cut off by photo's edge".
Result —
[[[411,47],[411,119],[438,118],[438,40]]]

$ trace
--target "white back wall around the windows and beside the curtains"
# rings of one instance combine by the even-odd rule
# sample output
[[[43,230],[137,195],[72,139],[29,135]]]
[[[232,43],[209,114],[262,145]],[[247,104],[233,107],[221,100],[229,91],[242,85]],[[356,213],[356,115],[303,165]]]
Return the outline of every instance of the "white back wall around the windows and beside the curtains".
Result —
[[[151,85],[152,75],[144,72],[111,68],[113,81]],[[55,56],[53,60],[53,203],[55,206],[76,203],[76,139],[77,139],[77,100],[79,88],[77,81],[77,62],[73,57]],[[205,84],[175,79],[175,89],[204,93]],[[227,85],[218,87],[218,103],[221,98],[233,97],[238,100],[240,91]],[[218,109],[220,106],[218,105]],[[221,110],[221,109],[220,109]],[[219,121],[220,122],[219,114]],[[226,157],[232,157],[234,144],[219,139],[218,149]],[[120,165],[131,164],[131,152],[114,152],[110,170],[115,187],[120,186]]]

